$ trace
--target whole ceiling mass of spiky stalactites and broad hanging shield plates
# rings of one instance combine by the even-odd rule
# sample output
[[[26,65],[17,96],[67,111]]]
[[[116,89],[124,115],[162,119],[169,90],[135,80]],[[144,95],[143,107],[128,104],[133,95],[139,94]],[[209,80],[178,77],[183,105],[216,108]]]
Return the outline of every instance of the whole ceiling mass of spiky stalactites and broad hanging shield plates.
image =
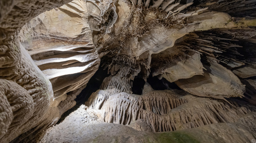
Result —
[[[242,57],[250,51],[242,49],[244,42],[253,44],[256,35],[255,2],[243,1],[248,8],[236,14],[231,11],[238,1],[117,1],[104,8],[92,2],[101,11],[112,7],[108,17],[101,12],[94,19],[105,20],[93,33],[102,63],[131,86],[136,76],[146,81],[152,74],[194,95],[224,99],[242,97],[245,87],[239,78],[255,76],[255,61]],[[120,85],[109,86],[124,91]]]

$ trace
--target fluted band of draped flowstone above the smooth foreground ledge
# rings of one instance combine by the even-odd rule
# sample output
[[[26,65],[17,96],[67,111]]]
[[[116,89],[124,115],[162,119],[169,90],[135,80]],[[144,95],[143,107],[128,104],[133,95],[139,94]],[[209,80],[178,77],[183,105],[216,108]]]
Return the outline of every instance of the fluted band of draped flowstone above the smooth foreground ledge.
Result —
[[[177,91],[176,91],[177,92]],[[151,91],[143,95],[99,90],[85,103],[89,109],[105,111],[105,122],[129,125],[143,119],[154,132],[176,131],[212,123],[235,122],[256,107],[238,100],[201,98],[175,91]]]

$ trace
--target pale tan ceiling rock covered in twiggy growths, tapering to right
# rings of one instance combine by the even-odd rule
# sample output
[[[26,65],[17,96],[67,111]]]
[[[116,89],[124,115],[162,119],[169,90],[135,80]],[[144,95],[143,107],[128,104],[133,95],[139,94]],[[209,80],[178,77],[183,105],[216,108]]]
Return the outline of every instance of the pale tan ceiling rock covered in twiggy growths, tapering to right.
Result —
[[[118,47],[118,45],[115,44],[117,44],[119,40],[119,43],[121,42],[120,46],[123,50],[122,54],[129,55],[130,58],[136,58],[136,60],[147,58],[150,59],[150,56],[152,54],[157,54],[168,48],[173,47],[177,39],[181,38],[189,32],[197,30],[210,30],[212,28],[237,27],[236,23],[229,22],[231,16],[226,13],[216,11],[203,13],[202,11],[206,10],[207,8],[202,9],[201,11],[198,10],[198,12],[194,11],[195,13],[197,13],[195,15],[184,15],[183,13],[180,13],[177,14],[177,16],[175,14],[170,14],[167,17],[167,13],[160,13],[157,9],[139,9],[139,7],[136,6],[131,6],[131,8],[127,8],[126,6],[122,6],[126,5],[126,3],[118,2],[118,4],[120,5],[120,7],[117,7],[117,9],[124,8],[126,11],[130,13],[130,15],[127,16],[125,12],[123,13],[123,9],[120,11],[118,10],[118,17],[122,17],[125,20],[117,20],[115,24],[115,29],[117,29],[115,35],[109,36],[109,34],[102,33],[102,35],[100,35],[99,37],[103,37],[103,39],[98,39],[97,43],[100,43],[99,47],[104,47],[108,48],[109,50],[112,50],[111,47]],[[183,6],[179,5],[178,7],[182,7],[181,9],[183,9],[186,8],[188,5]],[[160,16],[160,14],[163,14],[163,17],[166,17],[167,20],[178,18],[180,19],[179,21],[169,20],[167,23],[164,23],[165,19],[162,16]],[[144,17],[145,21],[142,21],[140,17]],[[181,22],[185,17],[191,17],[188,21],[189,25],[195,24],[197,26],[172,26]],[[154,23],[155,19],[161,21],[162,25],[169,24],[169,26],[158,25],[157,23]],[[224,23],[227,24],[225,25]],[[252,24],[253,22],[246,21],[246,23]],[[144,28],[143,32],[140,31],[141,29],[139,28],[139,26]],[[122,35],[120,35],[120,33]],[[131,35],[128,33],[131,33]],[[111,46],[109,46],[110,43],[112,44]]]

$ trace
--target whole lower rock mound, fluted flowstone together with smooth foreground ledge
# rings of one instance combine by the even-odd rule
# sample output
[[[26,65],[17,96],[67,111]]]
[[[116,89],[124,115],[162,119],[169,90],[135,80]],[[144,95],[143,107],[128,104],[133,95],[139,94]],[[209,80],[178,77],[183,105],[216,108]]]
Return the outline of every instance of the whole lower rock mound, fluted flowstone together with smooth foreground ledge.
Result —
[[[104,96],[104,92],[106,93],[106,96]],[[80,106],[78,110],[73,112],[62,123],[48,129],[41,142],[72,142],[75,140],[76,142],[239,143],[255,141],[255,106],[238,104],[236,101],[232,102],[232,106],[228,103],[218,102],[215,99],[211,100],[209,98],[201,98],[192,95],[182,96],[173,91],[167,90],[149,92],[145,96],[130,95],[129,99],[123,98],[127,95],[129,94],[120,92],[117,89],[98,90],[92,95],[93,98],[91,98],[90,101],[92,101],[92,99],[96,99],[94,101],[100,102],[88,102],[90,107],[84,105]],[[160,96],[160,99],[152,100],[156,96]],[[108,116],[105,115],[107,112],[104,113],[103,111],[108,111],[106,107],[111,106],[109,105],[108,100],[111,100],[112,97],[116,98],[116,103],[122,103],[119,104],[118,107],[115,107],[116,110],[113,110],[116,113],[119,112],[118,114],[120,116],[117,117],[114,115],[116,120],[112,120],[114,122],[116,121],[118,124],[103,123],[103,118],[105,118],[106,121],[106,117]],[[201,100],[196,100],[199,98]],[[166,101],[168,99],[169,102],[167,103]],[[133,102],[127,103],[128,100]],[[148,102],[149,100],[151,100],[151,102]],[[106,102],[104,103],[104,101]],[[157,104],[155,101],[162,101],[162,103],[166,102],[166,104],[164,104],[166,108],[163,109],[163,104]],[[138,107],[140,103],[142,104],[142,102],[145,103],[144,109]],[[182,104],[182,102],[184,103]],[[114,102],[114,104],[116,103]],[[126,103],[130,105],[127,106],[125,105]],[[137,108],[132,107],[134,104],[137,105]],[[150,104],[151,107],[148,107],[147,105],[150,106]],[[103,106],[100,107],[100,105]],[[92,109],[92,107],[95,109]],[[123,107],[127,108],[122,110]],[[96,108],[101,108],[101,110]],[[132,108],[135,110],[143,110],[139,113],[145,114],[144,117],[146,118],[134,120],[130,123],[127,123],[130,124],[127,126],[119,124],[119,121],[122,122],[123,119],[129,119],[129,117],[136,116],[133,113],[136,114],[137,112],[133,112]],[[153,133],[149,126],[147,126],[147,123],[152,120],[166,118],[166,114],[164,115],[163,113],[160,115],[164,110],[168,111],[166,114],[173,114],[173,116],[170,116],[169,119],[175,120],[172,120],[170,123],[181,123],[179,128],[173,128],[179,131]],[[185,113],[188,110],[195,111]],[[252,110],[254,112],[251,112]],[[190,113],[193,115],[189,115],[190,117],[186,118],[186,115]],[[229,116],[227,114],[233,114],[234,116]],[[228,116],[229,118],[227,118]],[[137,118],[140,117],[142,116],[138,116]],[[136,119],[136,117],[134,119]],[[182,119],[184,120],[181,121]],[[202,124],[202,126],[191,128],[190,125],[193,122],[196,122],[196,124],[199,126]],[[211,123],[208,124],[207,122]],[[157,122],[156,124],[153,124],[153,126],[163,125],[162,129],[168,129],[168,125],[164,125],[164,123],[166,122]],[[152,125],[150,127],[152,128]],[[63,134],[66,132],[70,134]]]

